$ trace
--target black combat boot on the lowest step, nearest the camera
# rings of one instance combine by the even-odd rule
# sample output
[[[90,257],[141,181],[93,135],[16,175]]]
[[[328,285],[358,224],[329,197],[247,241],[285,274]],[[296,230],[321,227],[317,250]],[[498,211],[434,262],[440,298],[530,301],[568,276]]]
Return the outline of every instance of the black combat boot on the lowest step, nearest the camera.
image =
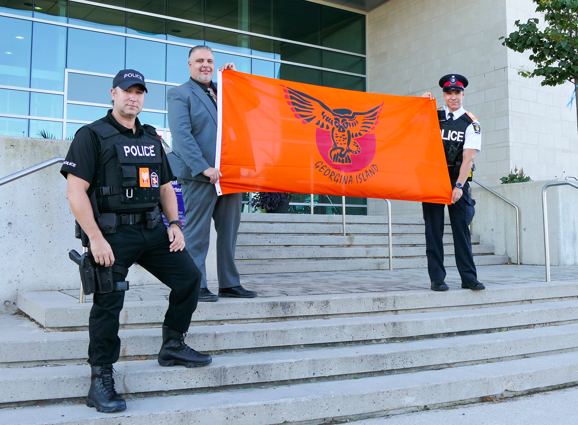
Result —
[[[114,389],[112,364],[91,366],[90,371],[91,383],[86,397],[86,405],[95,407],[101,413],[112,413],[126,409],[127,403]]]

